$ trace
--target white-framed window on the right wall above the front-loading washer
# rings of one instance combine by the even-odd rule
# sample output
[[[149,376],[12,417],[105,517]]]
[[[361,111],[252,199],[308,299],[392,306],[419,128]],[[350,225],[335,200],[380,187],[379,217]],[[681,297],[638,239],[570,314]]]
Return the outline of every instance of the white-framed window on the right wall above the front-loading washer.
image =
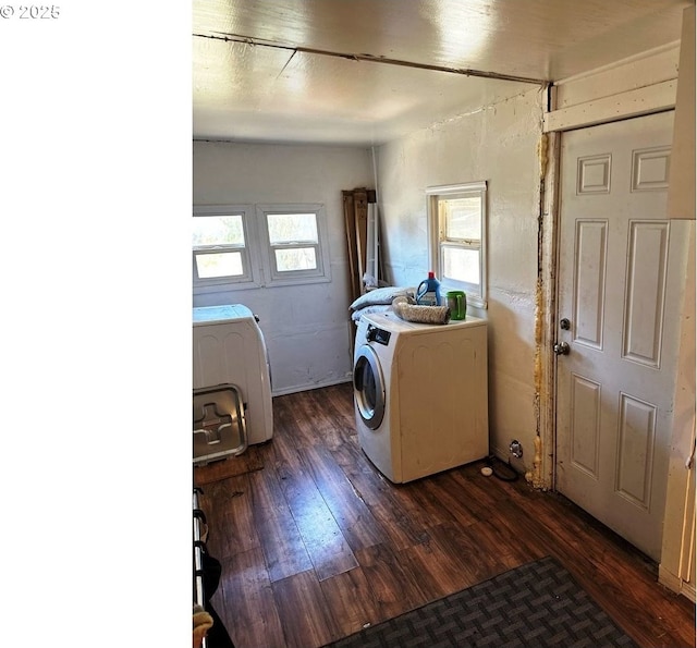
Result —
[[[463,290],[467,303],[487,307],[487,183],[426,189],[430,265],[441,292]]]

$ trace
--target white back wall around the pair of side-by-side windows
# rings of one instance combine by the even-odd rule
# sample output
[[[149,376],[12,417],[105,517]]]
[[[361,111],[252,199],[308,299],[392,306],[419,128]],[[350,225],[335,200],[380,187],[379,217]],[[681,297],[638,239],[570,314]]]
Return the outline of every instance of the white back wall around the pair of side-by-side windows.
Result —
[[[329,283],[194,296],[194,306],[244,304],[258,315],[274,395],[350,379],[354,330],[341,192],[371,187],[372,179],[372,156],[364,148],[194,143],[195,205],[325,205]]]

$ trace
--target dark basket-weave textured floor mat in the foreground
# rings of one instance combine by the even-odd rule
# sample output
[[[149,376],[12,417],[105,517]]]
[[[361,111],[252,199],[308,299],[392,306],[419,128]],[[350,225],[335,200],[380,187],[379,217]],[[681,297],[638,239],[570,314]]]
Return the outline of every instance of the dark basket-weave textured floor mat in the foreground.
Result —
[[[550,557],[494,576],[329,646],[637,647],[571,574]]]

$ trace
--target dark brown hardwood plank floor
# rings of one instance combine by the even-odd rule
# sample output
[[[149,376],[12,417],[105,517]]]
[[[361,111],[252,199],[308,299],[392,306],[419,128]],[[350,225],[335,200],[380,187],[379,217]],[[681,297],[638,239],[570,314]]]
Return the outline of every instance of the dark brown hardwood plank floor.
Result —
[[[223,568],[212,604],[236,648],[319,647],[543,555],[639,646],[695,646],[693,603],[561,496],[479,462],[389,482],[360,451],[352,399],[351,384],[278,396],[271,441],[195,470]],[[206,482],[225,472],[240,474]]]

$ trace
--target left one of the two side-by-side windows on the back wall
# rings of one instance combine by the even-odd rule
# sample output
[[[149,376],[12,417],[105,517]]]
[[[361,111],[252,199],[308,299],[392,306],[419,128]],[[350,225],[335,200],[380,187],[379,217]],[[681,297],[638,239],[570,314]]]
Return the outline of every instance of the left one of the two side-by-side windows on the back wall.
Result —
[[[194,207],[194,288],[254,282],[249,206]]]

